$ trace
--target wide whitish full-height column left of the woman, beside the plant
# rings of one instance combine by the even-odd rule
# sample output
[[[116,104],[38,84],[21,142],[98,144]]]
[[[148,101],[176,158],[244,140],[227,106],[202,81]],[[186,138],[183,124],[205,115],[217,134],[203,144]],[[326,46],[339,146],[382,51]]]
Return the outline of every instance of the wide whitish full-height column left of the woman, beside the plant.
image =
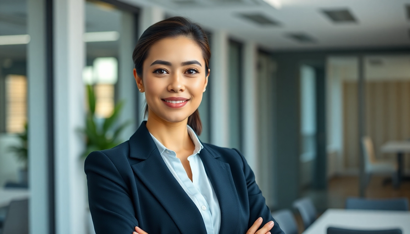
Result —
[[[54,1],[56,233],[86,233],[84,139],[84,1]]]

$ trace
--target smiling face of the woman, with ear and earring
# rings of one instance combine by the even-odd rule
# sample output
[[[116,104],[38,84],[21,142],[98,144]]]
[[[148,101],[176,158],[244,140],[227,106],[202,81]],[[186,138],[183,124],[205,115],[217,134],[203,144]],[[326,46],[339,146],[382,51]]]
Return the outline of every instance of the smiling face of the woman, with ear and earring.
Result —
[[[142,70],[142,77],[138,77],[134,69],[134,77],[140,92],[145,92],[149,115],[153,112],[167,122],[178,123],[199,107],[209,73],[205,76],[202,51],[191,39],[157,41]]]

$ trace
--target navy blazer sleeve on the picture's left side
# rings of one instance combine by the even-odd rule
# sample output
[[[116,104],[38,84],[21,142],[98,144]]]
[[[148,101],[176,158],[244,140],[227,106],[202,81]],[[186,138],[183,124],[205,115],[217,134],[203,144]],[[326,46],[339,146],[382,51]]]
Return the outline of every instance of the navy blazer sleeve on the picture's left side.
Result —
[[[96,234],[132,234],[138,226],[134,205],[111,159],[103,152],[91,152],[85,160],[84,171]]]

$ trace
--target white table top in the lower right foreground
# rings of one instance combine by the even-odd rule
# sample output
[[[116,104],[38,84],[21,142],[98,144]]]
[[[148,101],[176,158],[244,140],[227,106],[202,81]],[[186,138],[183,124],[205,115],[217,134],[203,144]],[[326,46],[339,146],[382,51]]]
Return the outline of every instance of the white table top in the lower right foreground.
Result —
[[[303,234],[326,234],[328,227],[396,229],[410,234],[410,211],[327,209]]]

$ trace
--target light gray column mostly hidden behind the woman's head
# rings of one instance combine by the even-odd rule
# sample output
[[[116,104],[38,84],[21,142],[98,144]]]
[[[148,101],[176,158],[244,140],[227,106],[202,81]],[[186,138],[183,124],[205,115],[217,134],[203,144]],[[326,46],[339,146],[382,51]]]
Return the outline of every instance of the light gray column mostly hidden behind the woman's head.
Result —
[[[142,33],[151,25],[164,20],[165,19],[165,12],[162,8],[159,7],[144,7],[141,10],[141,15],[139,18],[139,36],[142,35]],[[139,122],[138,125],[144,120],[144,114],[145,114],[145,94],[144,93],[139,93],[138,96],[138,111],[140,113],[139,115]]]

